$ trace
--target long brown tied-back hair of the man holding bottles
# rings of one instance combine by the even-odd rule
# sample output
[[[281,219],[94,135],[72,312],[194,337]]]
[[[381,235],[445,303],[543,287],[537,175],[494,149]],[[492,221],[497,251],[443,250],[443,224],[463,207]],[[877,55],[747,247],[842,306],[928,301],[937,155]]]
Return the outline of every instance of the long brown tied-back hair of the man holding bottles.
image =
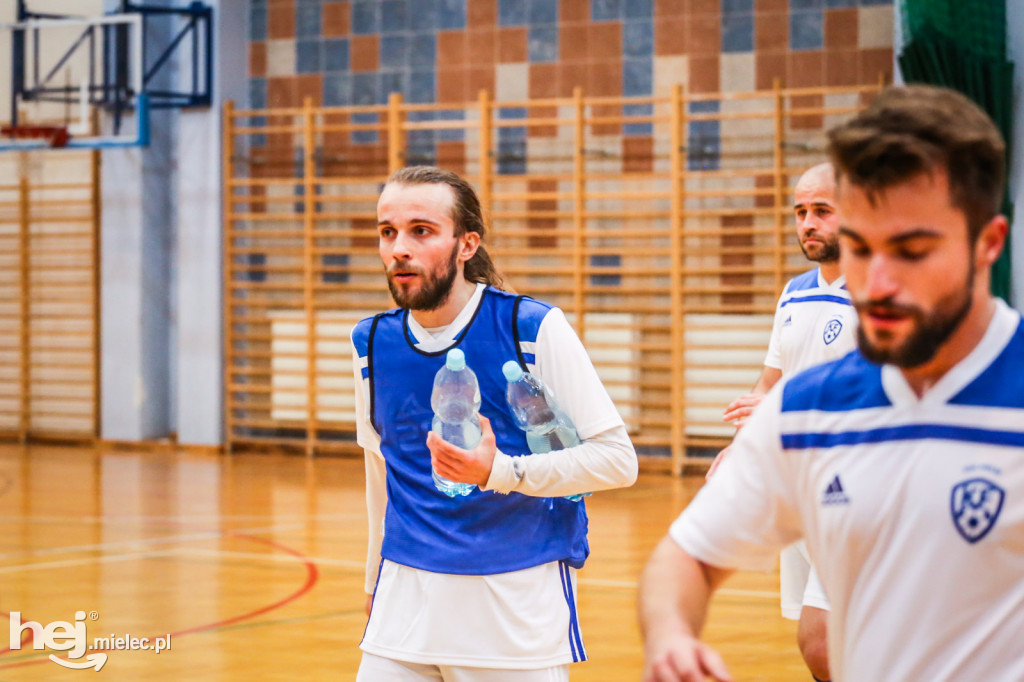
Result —
[[[473,257],[466,261],[465,276],[470,282],[481,282],[502,288],[502,275],[483,245],[486,226],[483,222],[480,200],[469,181],[458,173],[436,166],[407,166],[392,173],[385,184],[446,184],[452,187],[452,193],[455,195],[455,202],[452,205],[455,236],[462,237],[466,232],[476,232],[480,236],[480,246]]]

